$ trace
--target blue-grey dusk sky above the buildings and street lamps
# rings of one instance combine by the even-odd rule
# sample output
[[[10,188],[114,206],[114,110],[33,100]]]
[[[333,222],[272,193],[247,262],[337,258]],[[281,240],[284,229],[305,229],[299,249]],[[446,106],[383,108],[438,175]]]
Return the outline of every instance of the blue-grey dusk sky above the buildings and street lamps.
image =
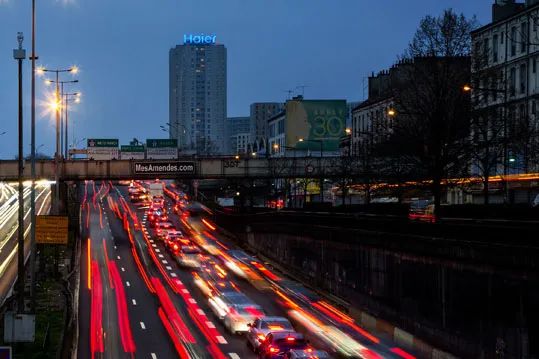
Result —
[[[184,33],[215,34],[228,49],[228,115],[249,104],[364,98],[364,78],[391,66],[420,19],[452,7],[480,24],[493,1],[477,0],[38,0],[38,64],[80,67],[82,103],[70,113],[75,137],[168,137],[168,52]],[[0,157],[17,153],[17,31],[30,54],[30,0],[0,0]],[[24,63],[25,152],[30,143],[30,62]],[[72,79],[70,75],[62,77]],[[38,79],[40,104],[52,89]],[[301,90],[296,90],[300,91]],[[297,93],[297,92],[296,92]],[[54,152],[54,122],[37,112],[37,145]],[[72,141],[72,130],[69,131]],[[85,145],[81,142],[79,147]]]

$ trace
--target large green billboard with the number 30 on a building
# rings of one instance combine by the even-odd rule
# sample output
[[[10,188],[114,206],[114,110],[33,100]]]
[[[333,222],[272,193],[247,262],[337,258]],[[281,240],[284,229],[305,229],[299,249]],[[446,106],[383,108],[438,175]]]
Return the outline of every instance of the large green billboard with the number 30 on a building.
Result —
[[[286,145],[313,152],[339,151],[346,130],[346,100],[286,102]]]

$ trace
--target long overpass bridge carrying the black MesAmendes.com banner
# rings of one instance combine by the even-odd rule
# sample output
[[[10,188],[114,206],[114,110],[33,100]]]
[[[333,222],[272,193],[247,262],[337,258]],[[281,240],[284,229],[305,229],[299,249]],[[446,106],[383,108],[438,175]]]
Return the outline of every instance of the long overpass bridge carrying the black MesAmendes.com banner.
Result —
[[[175,160],[37,160],[36,177],[62,181],[120,179],[264,179],[360,177],[359,160],[354,157],[234,157],[178,158]],[[0,160],[0,181],[17,180],[17,160]],[[24,178],[30,179],[26,161]]]

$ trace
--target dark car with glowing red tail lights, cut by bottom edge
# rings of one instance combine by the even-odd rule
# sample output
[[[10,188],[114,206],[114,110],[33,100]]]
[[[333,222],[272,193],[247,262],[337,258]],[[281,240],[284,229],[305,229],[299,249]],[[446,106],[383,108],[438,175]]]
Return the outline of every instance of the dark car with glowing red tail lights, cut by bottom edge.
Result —
[[[269,333],[260,343],[258,357],[263,359],[285,358],[291,350],[313,350],[303,334],[297,332]]]

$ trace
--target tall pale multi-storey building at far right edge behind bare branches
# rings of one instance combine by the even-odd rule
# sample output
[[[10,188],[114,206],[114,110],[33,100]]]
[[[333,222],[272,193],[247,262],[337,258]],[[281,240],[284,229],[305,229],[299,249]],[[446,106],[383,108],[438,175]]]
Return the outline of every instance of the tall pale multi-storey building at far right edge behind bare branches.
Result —
[[[471,137],[488,144],[489,154],[496,156],[489,175],[539,170],[538,19],[539,1],[496,0],[492,22],[471,34],[476,119]],[[481,175],[480,159],[472,163],[472,172]]]

